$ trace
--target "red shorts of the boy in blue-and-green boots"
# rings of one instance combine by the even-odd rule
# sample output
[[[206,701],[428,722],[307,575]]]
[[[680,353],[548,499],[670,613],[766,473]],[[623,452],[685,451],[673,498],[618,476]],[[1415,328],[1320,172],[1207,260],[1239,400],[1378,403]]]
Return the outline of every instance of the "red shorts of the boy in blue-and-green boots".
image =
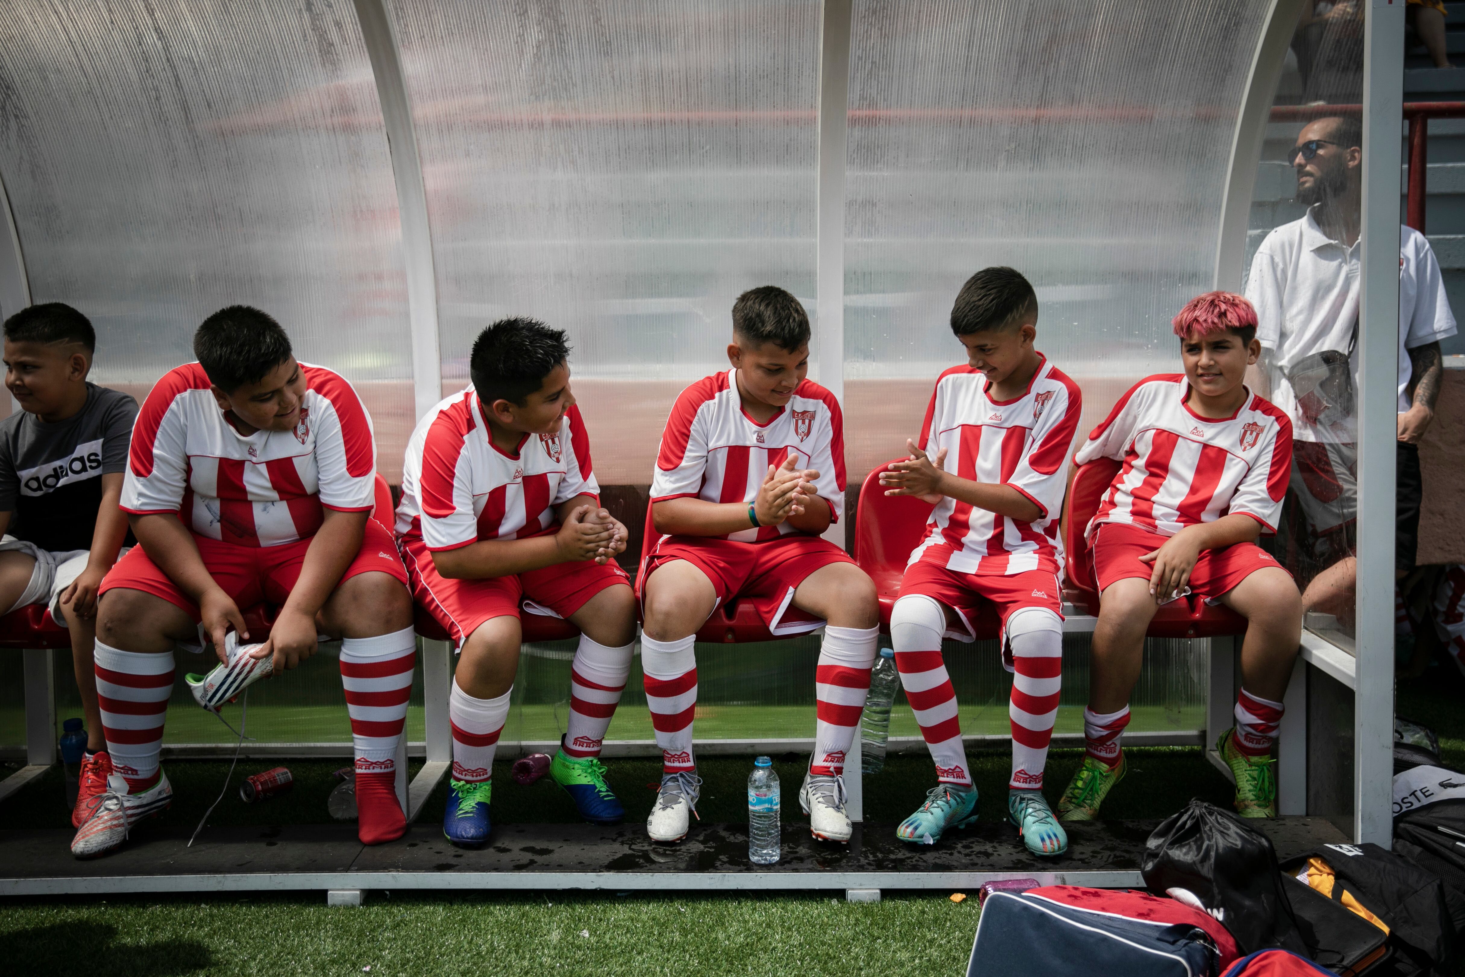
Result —
[[[416,538],[401,540],[412,598],[453,637],[459,650],[483,621],[530,614],[567,618],[590,598],[631,579],[614,562],[593,560],[557,562],[552,567],[511,573],[507,577],[451,580],[438,573],[428,545]]]

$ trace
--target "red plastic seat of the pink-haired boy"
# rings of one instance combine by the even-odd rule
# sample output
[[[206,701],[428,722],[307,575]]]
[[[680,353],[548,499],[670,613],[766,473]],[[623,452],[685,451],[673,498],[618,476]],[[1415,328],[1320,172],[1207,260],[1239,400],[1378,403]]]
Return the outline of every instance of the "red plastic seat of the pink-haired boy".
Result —
[[[1074,602],[1099,614],[1099,592],[1094,582],[1093,554],[1084,529],[1099,511],[1103,494],[1119,473],[1119,463],[1100,458],[1078,466],[1078,475],[1068,489],[1068,524],[1064,529],[1064,545],[1068,551],[1068,587]],[[1225,637],[1242,634],[1247,621],[1228,606],[1209,605],[1200,598],[1185,596],[1171,601],[1150,621],[1150,637]]]

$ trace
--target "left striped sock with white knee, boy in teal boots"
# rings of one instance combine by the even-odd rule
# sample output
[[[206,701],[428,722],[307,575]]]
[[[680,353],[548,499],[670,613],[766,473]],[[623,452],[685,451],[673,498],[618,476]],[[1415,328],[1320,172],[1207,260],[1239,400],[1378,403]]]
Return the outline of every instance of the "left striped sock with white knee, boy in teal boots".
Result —
[[[935,599],[911,595],[895,602],[891,612],[891,644],[895,647],[895,669],[905,688],[905,702],[916,713],[916,724],[936,762],[941,784],[971,785],[967,748],[961,743],[961,719],[957,716],[957,691],[941,658],[941,636],[946,630],[946,612]]]

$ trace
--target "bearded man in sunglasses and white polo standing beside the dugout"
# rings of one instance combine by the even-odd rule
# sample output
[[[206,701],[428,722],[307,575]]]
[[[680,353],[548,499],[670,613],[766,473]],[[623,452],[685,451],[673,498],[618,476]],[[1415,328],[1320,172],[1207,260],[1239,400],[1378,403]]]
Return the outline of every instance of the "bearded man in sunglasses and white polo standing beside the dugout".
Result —
[[[1358,445],[1358,233],[1362,125],[1357,117],[1317,119],[1298,133],[1291,155],[1302,218],[1267,234],[1251,262],[1247,297],[1257,309],[1263,359],[1256,393],[1292,419],[1294,532],[1282,562],[1298,574],[1310,611],[1354,620],[1357,574]],[[1440,265],[1412,227],[1399,234],[1399,447],[1396,576],[1414,568],[1418,549],[1420,438],[1434,419],[1443,360],[1440,340],[1455,335]]]

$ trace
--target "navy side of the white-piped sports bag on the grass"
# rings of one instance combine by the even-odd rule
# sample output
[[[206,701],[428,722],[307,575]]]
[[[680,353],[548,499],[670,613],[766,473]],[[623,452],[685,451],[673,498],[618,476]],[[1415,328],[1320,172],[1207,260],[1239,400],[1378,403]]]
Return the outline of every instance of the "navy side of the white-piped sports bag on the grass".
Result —
[[[1195,926],[993,892],[982,907],[967,977],[1214,977],[1217,961],[1210,936]]]

